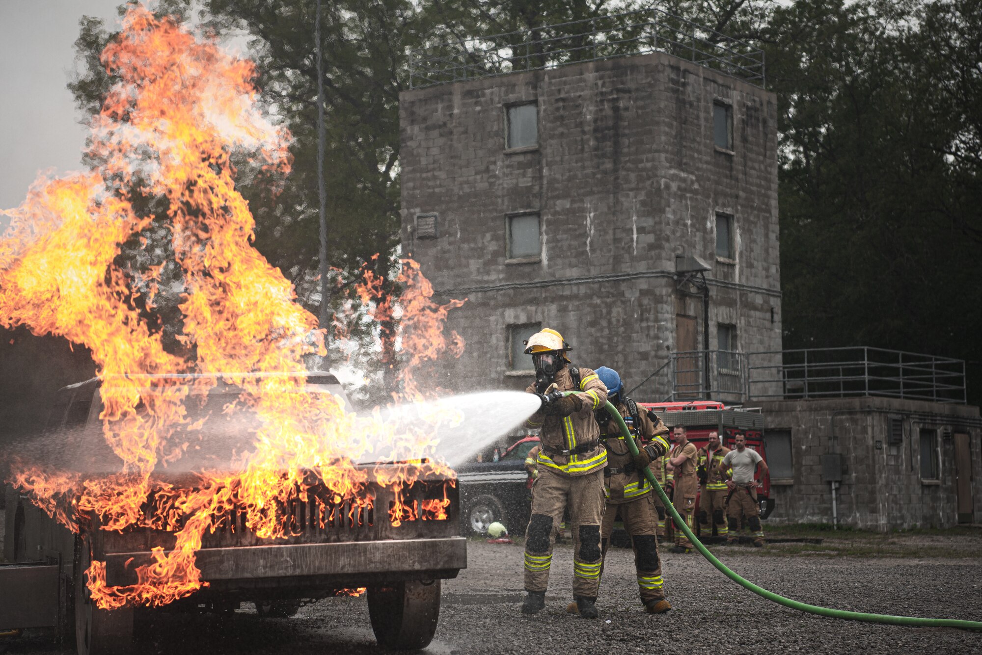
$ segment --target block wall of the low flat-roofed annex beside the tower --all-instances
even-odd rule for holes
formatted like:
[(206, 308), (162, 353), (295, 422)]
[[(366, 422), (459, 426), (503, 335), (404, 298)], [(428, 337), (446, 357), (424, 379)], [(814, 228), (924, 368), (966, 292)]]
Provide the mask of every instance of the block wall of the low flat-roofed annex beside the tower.
[[(793, 478), (774, 484), (774, 523), (832, 523), (832, 490), (822, 456), (843, 457), (837, 490), (840, 525), (863, 529), (948, 528), (957, 523), (955, 432), (969, 435), (974, 513), (982, 519), (982, 441), (979, 409), (965, 405), (837, 398), (760, 403), (768, 431), (791, 430)], [(891, 418), (903, 436), (890, 445)], [(936, 430), (939, 479), (921, 479), (921, 430)]]

